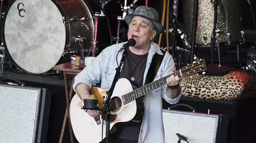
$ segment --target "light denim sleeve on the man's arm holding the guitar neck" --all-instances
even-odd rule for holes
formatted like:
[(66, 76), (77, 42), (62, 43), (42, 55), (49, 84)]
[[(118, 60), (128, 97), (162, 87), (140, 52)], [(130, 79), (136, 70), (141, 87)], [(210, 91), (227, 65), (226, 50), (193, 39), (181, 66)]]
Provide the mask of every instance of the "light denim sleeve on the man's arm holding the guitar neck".
[[(169, 55), (169, 58), (167, 58), (167, 60), (164, 61), (165, 62), (165, 64), (164, 64), (165, 67), (164, 67), (164, 73), (163, 73), (162, 77), (166, 77), (168, 75), (171, 75), (173, 73), (171, 71), (172, 68), (176, 69), (172, 56), (170, 54), (168, 54), (168, 55)], [(182, 94), (180, 94), (175, 99), (170, 99), (166, 96), (166, 88), (167, 88), (167, 84), (162, 86), (162, 96), (163, 96), (164, 100), (166, 100), (166, 102), (168, 102), (169, 104), (177, 104), (178, 101), (180, 100), (180, 97), (181, 97)]]

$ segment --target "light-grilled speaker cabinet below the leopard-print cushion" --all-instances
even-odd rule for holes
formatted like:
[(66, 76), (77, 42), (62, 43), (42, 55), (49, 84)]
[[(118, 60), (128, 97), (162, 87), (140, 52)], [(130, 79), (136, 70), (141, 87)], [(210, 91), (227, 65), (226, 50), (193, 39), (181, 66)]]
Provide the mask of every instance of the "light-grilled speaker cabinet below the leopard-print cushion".
[(227, 142), (228, 116), (163, 109), (163, 123), (165, 143)]

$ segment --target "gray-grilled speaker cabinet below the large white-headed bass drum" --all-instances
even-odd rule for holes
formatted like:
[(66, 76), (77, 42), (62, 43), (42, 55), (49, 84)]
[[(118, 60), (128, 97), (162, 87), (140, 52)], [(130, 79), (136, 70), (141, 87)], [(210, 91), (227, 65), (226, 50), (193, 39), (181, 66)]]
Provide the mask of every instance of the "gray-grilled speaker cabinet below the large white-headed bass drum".
[(0, 84), (0, 142), (46, 143), (51, 96), (43, 88)]

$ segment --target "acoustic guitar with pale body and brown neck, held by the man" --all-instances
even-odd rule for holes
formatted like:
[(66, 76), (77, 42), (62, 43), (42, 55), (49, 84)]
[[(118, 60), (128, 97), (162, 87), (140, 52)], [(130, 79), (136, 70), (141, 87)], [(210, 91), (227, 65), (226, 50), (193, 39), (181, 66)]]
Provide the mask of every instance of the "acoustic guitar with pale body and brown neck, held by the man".
[[(182, 69), (173, 73), (180, 77), (191, 75), (197, 72), (206, 70), (204, 60), (197, 61)], [(133, 90), (133, 87), (129, 80), (120, 78), (116, 83), (113, 94), (111, 96), (111, 114), (110, 114), (110, 129), (114, 124), (119, 122), (128, 122), (134, 119), (137, 113), (137, 98), (155, 90), (161, 88), (166, 84), (166, 79), (170, 77), (160, 78), (154, 82), (151, 82), (143, 87)], [(106, 91), (109, 89), (101, 89), (99, 87), (92, 87), (90, 94), (95, 95), (98, 99), (98, 104), (103, 107), (103, 96), (106, 97)], [(88, 115), (83, 109), (83, 100), (75, 94), (71, 100), (69, 112), (71, 125), (73, 128), (74, 135), (80, 143), (99, 143), (103, 138), (106, 137), (106, 121), (101, 116), (94, 118)], [(103, 125), (102, 125), (103, 122)], [(102, 129), (103, 127), (103, 129)], [(103, 132), (103, 134), (102, 134)]]

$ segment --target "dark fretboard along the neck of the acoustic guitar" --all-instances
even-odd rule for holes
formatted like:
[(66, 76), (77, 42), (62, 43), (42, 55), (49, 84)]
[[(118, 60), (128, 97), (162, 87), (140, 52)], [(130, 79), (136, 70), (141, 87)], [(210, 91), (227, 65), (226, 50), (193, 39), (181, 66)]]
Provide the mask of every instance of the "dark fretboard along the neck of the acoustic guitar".
[[(176, 71), (175, 73), (173, 73), (175, 76), (178, 75), (178, 76), (182, 76), (181, 75), (181, 71), (178, 70)], [(171, 74), (171, 75), (173, 75)], [(156, 80), (155, 82), (151, 82), (147, 85), (144, 85), (143, 87), (140, 87), (136, 90), (133, 90), (132, 92), (128, 93), (128, 94), (125, 94), (122, 96), (122, 99), (123, 99), (123, 104), (128, 104), (129, 102), (155, 90), (155, 89), (158, 89), (159, 87), (163, 86), (166, 84), (166, 79), (168, 77), (170, 77), (171, 75), (168, 75), (166, 77), (163, 77), (163, 78), (160, 78), (159, 80)]]

